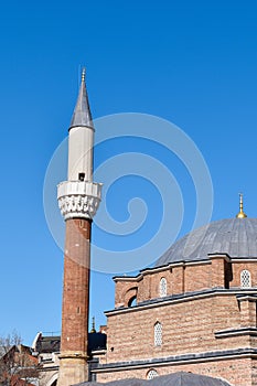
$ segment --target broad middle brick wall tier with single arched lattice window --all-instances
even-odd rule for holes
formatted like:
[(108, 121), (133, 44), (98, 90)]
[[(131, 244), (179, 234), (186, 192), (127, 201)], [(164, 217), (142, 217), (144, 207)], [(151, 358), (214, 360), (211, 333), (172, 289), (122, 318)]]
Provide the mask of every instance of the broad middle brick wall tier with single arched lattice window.
[[(154, 346), (154, 323), (162, 324), (163, 343)], [(215, 332), (239, 329), (242, 315), (234, 294), (211, 294), (154, 308), (131, 308), (108, 315), (106, 361), (164, 357), (249, 346), (247, 336), (216, 339)]]

